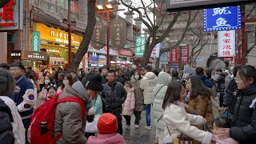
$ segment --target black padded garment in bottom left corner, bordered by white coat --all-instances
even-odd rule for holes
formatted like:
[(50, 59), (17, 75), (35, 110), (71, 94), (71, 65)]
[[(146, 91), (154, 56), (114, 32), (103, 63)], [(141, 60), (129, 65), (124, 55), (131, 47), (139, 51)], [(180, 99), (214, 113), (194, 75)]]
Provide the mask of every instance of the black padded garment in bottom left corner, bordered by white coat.
[(14, 118), (10, 108), (0, 99), (0, 143), (14, 143), (13, 126), (11, 122), (14, 122)]

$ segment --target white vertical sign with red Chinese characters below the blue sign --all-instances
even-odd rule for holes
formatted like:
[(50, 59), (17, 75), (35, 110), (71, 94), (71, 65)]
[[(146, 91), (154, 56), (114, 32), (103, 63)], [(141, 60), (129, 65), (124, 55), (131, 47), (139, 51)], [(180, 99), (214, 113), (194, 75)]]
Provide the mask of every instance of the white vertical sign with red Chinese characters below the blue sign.
[(235, 56), (235, 30), (218, 31), (218, 57)]

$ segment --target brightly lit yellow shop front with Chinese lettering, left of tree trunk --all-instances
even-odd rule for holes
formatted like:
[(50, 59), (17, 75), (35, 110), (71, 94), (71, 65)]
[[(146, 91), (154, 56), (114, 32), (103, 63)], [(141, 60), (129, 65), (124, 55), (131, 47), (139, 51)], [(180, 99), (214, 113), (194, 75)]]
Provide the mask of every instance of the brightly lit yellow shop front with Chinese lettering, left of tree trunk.
[[(68, 65), (69, 49), (68, 37), (69, 34), (65, 30), (56, 29), (46, 26), (42, 23), (34, 22), (34, 31), (40, 34), (40, 51), (46, 52), (49, 55), (48, 65), (53, 67), (65, 67)], [(71, 35), (71, 58), (77, 52), (82, 36), (72, 33)]]

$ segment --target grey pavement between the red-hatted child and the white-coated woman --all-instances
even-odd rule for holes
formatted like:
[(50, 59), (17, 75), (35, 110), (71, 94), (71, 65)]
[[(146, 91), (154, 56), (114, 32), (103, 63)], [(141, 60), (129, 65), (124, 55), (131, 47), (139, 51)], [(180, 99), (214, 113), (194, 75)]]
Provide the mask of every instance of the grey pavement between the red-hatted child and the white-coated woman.
[(122, 130), (123, 130), (123, 138), (125, 138), (126, 144), (154, 144), (154, 136), (155, 136), (155, 127), (153, 121), (153, 114), (151, 113), (151, 126), (152, 130), (146, 130), (146, 116), (145, 111), (142, 111), (142, 119), (139, 124), (139, 128), (135, 129), (134, 127), (134, 115), (131, 117), (131, 126), (130, 130), (126, 130), (126, 119), (122, 117)]

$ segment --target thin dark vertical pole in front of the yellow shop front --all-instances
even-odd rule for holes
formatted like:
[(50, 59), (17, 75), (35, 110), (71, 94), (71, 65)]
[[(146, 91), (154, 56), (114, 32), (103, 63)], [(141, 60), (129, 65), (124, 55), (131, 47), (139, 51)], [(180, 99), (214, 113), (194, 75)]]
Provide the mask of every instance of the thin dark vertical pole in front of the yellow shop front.
[(67, 14), (67, 21), (68, 21), (68, 29), (69, 29), (69, 65), (71, 63), (71, 0), (68, 0), (68, 14)]

